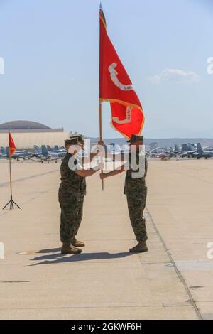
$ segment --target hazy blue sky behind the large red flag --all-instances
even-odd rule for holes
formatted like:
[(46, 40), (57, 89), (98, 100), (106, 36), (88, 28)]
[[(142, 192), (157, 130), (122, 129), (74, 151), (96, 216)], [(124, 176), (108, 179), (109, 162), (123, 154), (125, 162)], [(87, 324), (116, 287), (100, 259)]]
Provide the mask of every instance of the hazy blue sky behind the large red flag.
[[(0, 123), (28, 119), (98, 136), (97, 0), (0, 0)], [(213, 137), (212, 0), (102, 0), (147, 137)], [(104, 103), (104, 137), (110, 128)]]

